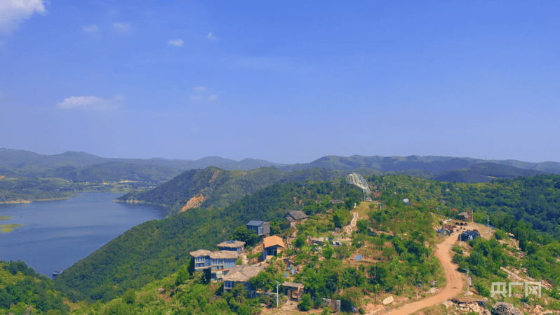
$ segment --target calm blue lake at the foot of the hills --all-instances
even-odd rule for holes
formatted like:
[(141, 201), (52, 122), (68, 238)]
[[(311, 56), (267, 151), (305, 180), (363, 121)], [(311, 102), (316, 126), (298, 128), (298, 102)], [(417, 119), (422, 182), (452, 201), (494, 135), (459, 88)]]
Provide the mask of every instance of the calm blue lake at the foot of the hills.
[(87, 257), (126, 230), (163, 219), (165, 210), (113, 202), (122, 194), (85, 193), (63, 201), (0, 204), (0, 215), (22, 223), (0, 232), (0, 260), (22, 260), (39, 274), (51, 276)]

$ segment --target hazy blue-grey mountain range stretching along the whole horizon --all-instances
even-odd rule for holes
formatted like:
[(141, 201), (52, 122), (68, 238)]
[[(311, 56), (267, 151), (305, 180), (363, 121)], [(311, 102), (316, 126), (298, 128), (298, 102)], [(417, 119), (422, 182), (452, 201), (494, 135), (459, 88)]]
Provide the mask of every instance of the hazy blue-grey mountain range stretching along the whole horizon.
[[(307, 170), (311, 168), (326, 168), (328, 170), (356, 171), (364, 175), (405, 174), (432, 178), (434, 180), (456, 182), (488, 182), (493, 178), (513, 178), (517, 176), (533, 176), (540, 173), (560, 174), (560, 163), (541, 162), (530, 163), (516, 160), (483, 160), (472, 158), (458, 158), (451, 156), (324, 156), (311, 163), (279, 164), (260, 159), (244, 159), (234, 161), (219, 156), (208, 156), (196, 161), (171, 159), (114, 159), (102, 158), (85, 152), (68, 151), (62, 154), (43, 155), (18, 149), (0, 149), (0, 175), (24, 176), (25, 173), (36, 174), (42, 171), (44, 176), (62, 174), (60, 177), (69, 178), (74, 170), (78, 175), (89, 175), (100, 172), (100, 164), (119, 166), (121, 171), (112, 171), (112, 178), (128, 179), (131, 170), (141, 170), (133, 167), (159, 166), (172, 168), (180, 172), (192, 169), (204, 169), (210, 166), (224, 170), (254, 170), (262, 167), (273, 167), (284, 171)], [(480, 165), (479, 164), (483, 164)], [(490, 165), (492, 164), (492, 165)], [(128, 167), (125, 167), (128, 165)], [(95, 166), (95, 167), (93, 167)], [(474, 167), (476, 166), (476, 167)], [(501, 167), (500, 167), (501, 166)], [(89, 168), (92, 168), (90, 170)], [(106, 169), (108, 166), (103, 167)], [(157, 173), (161, 180), (175, 175), (175, 172), (165, 172), (164, 168), (150, 170)], [(55, 171), (53, 171), (55, 169)], [(79, 170), (78, 170), (79, 169)], [(531, 170), (531, 172), (526, 172)], [(134, 172), (132, 172), (134, 173)], [(128, 175), (127, 175), (128, 174)], [(128, 176), (128, 177), (127, 177)], [(76, 177), (80, 178), (80, 177)], [(84, 175), (81, 178), (86, 178)], [(101, 178), (101, 177), (96, 177)]]

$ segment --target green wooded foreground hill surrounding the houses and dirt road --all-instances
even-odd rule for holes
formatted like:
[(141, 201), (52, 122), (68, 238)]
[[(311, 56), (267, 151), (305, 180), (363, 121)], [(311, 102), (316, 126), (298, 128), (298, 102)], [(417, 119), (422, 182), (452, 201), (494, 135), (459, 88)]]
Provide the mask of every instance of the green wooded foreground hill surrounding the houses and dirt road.
[[(215, 249), (213, 245), (225, 239), (236, 224), (242, 226), (255, 216), (271, 220), (273, 234), (286, 236), (286, 233), (291, 234), (293, 230), (279, 230), (274, 219), (281, 217), (285, 213), (284, 209), (301, 209), (312, 215), (312, 218), (298, 225), (297, 238), (292, 242), (291, 248), (284, 252), (284, 258), (289, 257), (298, 266), (298, 272), (290, 281), (305, 284), (307, 297), (302, 300), (305, 302), (300, 302), (301, 309), (321, 308), (323, 297), (341, 300), (342, 311), (347, 312), (354, 307), (364, 307), (364, 304), (372, 300), (379, 302), (387, 295), (400, 301), (416, 300), (426, 295), (434, 280), (444, 286), (446, 280), (442, 277), (441, 265), (434, 255), (434, 246), (439, 242), (435, 228), (441, 226), (446, 217), (456, 218), (458, 211), (469, 209), (458, 201), (459, 198), (467, 200), (469, 196), (481, 192), (488, 194), (486, 189), (503, 190), (507, 187), (514, 187), (512, 192), (521, 195), (556, 192), (559, 189), (556, 187), (559, 178), (554, 175), (475, 185), (436, 182), (406, 175), (376, 176), (369, 180), (373, 191), (380, 193), (376, 196), (378, 201), (366, 203), (365, 207), (359, 206), (356, 209), (352, 209), (352, 204), (361, 198), (361, 190), (343, 182), (314, 182), (305, 185), (278, 183), (232, 203), (226, 208), (227, 213), (216, 212), (215, 209), (192, 209), (166, 220), (142, 224), (138, 229), (133, 229), (134, 233), (133, 230), (127, 232), (102, 248), (101, 253), (96, 253), (96, 258), (99, 259), (97, 264), (91, 264), (92, 255), (78, 269), (75, 268), (78, 265), (72, 267), (72, 279), (68, 279), (67, 272), (70, 269), (63, 273), (62, 276), (67, 277), (63, 284), (76, 286), (83, 293), (90, 294), (91, 298), (103, 301), (124, 294), (107, 304), (91, 304), (76, 314), (89, 314), (93, 310), (108, 314), (108, 311), (117, 309), (128, 309), (131, 314), (135, 311), (156, 310), (170, 311), (172, 314), (253, 314), (258, 312), (260, 304), (274, 305), (274, 301), (266, 296), (253, 300), (242, 290), (222, 295), (222, 289), (218, 285), (208, 285), (200, 275), (187, 272), (188, 264), (185, 259), (188, 260), (189, 248), (185, 244), (192, 241), (196, 244), (194, 248)], [(530, 187), (533, 187), (533, 192)], [(450, 201), (452, 197), (457, 200)], [(402, 201), (405, 198), (410, 199), (409, 205)], [(345, 202), (335, 206), (342, 208), (326, 211), (333, 207), (329, 202), (331, 199), (342, 199)], [(488, 202), (491, 194), (488, 194), (488, 199), (481, 198), (482, 200)], [(548, 201), (554, 203), (552, 198), (543, 202)], [(472, 206), (472, 203), (467, 204)], [(455, 206), (458, 208), (454, 208)], [(364, 208), (371, 208), (371, 211), (359, 210)], [(361, 211), (350, 241), (341, 246), (317, 246), (309, 241), (309, 237), (332, 236), (335, 227), (346, 225), (349, 217), (352, 217), (349, 209), (352, 212)], [(194, 220), (195, 217), (187, 219), (187, 213), (196, 216), (199, 222), (192, 222), (194, 224), (189, 226), (189, 220)], [(492, 232), (484, 238), (463, 244), (462, 247), (453, 247), (453, 260), (476, 276), (475, 297), (489, 298), (489, 304), (496, 301), (491, 298), (488, 288), (492, 281), (506, 281), (507, 274), (500, 267), (519, 270), (524, 266), (528, 275), (535, 279), (548, 281), (553, 286), (560, 283), (560, 267), (556, 263), (560, 259), (559, 241), (552, 239), (548, 232), (535, 232), (523, 221), (500, 221), (505, 213), (500, 213), (500, 210), (493, 209), (492, 206), (475, 208), (475, 220), (481, 220), (487, 213), (491, 217), (491, 224), (499, 224), (505, 231), (514, 233), (516, 239), (511, 239), (498, 229), (493, 236)], [(174, 224), (178, 226), (173, 227)], [(185, 231), (189, 227), (196, 230), (187, 234)], [(478, 225), (478, 229), (482, 230), (481, 227), (484, 226)], [(220, 233), (221, 236), (214, 237)], [(449, 237), (456, 239), (457, 236)], [(158, 245), (162, 249), (158, 249)], [(521, 250), (517, 248), (518, 245)], [(127, 252), (133, 253), (140, 260), (140, 257), (152, 255), (153, 262), (144, 260), (142, 264), (135, 264), (132, 259), (124, 260), (123, 256), (126, 255), (115, 253), (116, 248), (130, 248)], [(156, 255), (152, 254), (154, 252)], [(185, 253), (185, 257), (178, 257), (178, 253)], [(357, 262), (353, 259), (355, 255), (363, 255), (364, 260)], [(119, 266), (126, 267), (112, 267), (112, 260), (116, 260)], [(110, 276), (97, 276), (100, 271), (94, 267), (98, 264), (114, 272)], [(144, 274), (150, 274), (154, 279), (163, 278), (166, 274), (160, 269), (172, 265), (181, 271), (171, 278), (156, 281), (138, 290), (135, 302), (126, 302), (133, 296), (131, 291), (125, 293), (126, 288), (141, 286), (134, 282), (135, 279), (144, 281)], [(141, 272), (138, 271), (140, 269)], [(255, 288), (274, 291), (275, 281), (286, 281), (285, 272), (284, 260), (273, 260), (265, 272), (252, 279), (251, 283)], [(132, 277), (129, 278), (128, 275)], [(86, 281), (82, 281), (83, 279)], [(116, 286), (112, 282), (114, 279), (121, 283)], [(439, 288), (443, 288), (441, 286)], [(156, 288), (159, 287), (164, 288), (166, 293), (157, 295)], [(547, 299), (546, 305), (552, 309), (560, 305), (558, 290), (543, 290), (544, 298)], [(534, 309), (535, 304), (544, 305), (542, 301), (522, 296), (510, 297), (508, 300), (518, 305), (523, 302), (522, 305), (528, 305), (526, 309)], [(391, 308), (393, 307), (394, 304)]]

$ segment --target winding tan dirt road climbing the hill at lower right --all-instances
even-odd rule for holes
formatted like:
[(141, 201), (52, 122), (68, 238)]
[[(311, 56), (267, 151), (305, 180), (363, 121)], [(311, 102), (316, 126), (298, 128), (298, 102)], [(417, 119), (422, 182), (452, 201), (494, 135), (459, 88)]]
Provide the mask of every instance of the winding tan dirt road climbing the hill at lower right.
[[(447, 236), (447, 239), (439, 244), (436, 248), (436, 257), (439, 259), (441, 264), (444, 266), (445, 275), (447, 280), (446, 287), (441, 290), (438, 294), (428, 297), (424, 300), (418, 302), (413, 302), (411, 304), (406, 304), (399, 309), (392, 310), (391, 315), (408, 315), (413, 314), (415, 311), (420, 311), (425, 307), (431, 307), (445, 300), (451, 299), (455, 295), (458, 295), (463, 291), (463, 274), (458, 272), (457, 265), (451, 262), (451, 246), (457, 241), (457, 235)], [(466, 278), (466, 277), (465, 277)]]

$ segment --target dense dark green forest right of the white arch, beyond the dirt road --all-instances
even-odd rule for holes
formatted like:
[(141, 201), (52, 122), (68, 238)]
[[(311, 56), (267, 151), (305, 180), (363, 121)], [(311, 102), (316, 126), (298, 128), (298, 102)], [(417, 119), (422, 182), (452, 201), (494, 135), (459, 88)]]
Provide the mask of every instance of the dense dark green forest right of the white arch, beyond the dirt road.
[[(560, 237), (560, 175), (517, 177), (513, 180), (465, 184), (437, 182), (408, 176), (373, 176), (374, 187), (392, 189), (411, 202), (431, 200), (441, 213), (474, 210), (475, 218), (511, 231), (520, 222), (556, 238)], [(396, 202), (396, 201), (394, 201)], [(484, 215), (483, 215), (484, 213)]]

